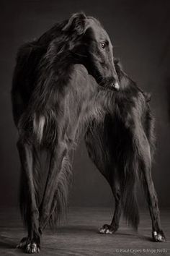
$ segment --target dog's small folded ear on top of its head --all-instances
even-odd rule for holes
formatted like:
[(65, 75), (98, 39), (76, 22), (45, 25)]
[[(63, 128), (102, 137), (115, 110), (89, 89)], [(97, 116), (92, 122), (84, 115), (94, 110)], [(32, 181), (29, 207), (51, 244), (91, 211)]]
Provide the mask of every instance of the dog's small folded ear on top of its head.
[(64, 32), (76, 32), (78, 35), (82, 35), (86, 30), (86, 15), (84, 13), (73, 14), (68, 20), (65, 27), (63, 27)]

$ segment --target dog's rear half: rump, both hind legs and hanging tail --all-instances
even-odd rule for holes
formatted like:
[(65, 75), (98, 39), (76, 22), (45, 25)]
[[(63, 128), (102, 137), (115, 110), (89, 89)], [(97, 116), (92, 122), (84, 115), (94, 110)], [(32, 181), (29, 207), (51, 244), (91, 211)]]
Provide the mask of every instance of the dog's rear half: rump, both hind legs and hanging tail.
[(152, 219), (153, 240), (163, 242), (158, 200), (151, 178), (151, 162), (155, 150), (154, 118), (149, 107), (150, 95), (122, 71), (119, 61), (115, 69), (120, 91), (107, 94), (110, 103), (103, 121), (95, 119), (85, 141), (89, 156), (109, 182), (115, 196), (115, 213), (110, 225), (100, 233), (112, 234), (119, 227), (121, 209), (128, 223), (138, 229), (139, 213), (135, 186), (139, 179)]

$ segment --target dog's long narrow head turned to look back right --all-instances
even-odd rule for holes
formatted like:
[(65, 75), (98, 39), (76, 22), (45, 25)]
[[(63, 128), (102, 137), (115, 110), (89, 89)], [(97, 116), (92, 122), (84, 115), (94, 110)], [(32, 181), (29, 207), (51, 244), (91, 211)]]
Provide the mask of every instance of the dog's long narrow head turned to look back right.
[(119, 90), (112, 43), (99, 21), (73, 14), (63, 27), (67, 47), (78, 63), (84, 64), (99, 85)]

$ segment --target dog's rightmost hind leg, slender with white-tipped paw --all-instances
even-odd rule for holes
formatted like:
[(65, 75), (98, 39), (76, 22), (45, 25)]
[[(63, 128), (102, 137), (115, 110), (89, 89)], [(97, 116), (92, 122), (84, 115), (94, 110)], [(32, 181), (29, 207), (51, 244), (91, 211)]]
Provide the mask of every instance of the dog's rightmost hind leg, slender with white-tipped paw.
[(158, 199), (151, 176), (151, 149), (142, 127), (136, 125), (135, 144), (139, 155), (139, 168), (143, 181), (143, 189), (146, 193), (148, 208), (152, 220), (152, 236), (154, 242), (164, 242), (164, 232), (161, 230)]

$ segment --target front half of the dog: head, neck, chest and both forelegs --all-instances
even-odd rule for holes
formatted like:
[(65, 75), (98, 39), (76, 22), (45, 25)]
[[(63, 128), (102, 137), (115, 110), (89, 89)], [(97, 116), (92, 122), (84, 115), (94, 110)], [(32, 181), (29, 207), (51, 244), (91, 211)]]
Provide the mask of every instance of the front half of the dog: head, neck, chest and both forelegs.
[(20, 208), (28, 231), (19, 247), (26, 252), (40, 252), (45, 226), (63, 214), (72, 151), (91, 120), (102, 119), (104, 93), (119, 89), (117, 81), (112, 44), (93, 17), (74, 14), (20, 48), (12, 106), (22, 166)]

